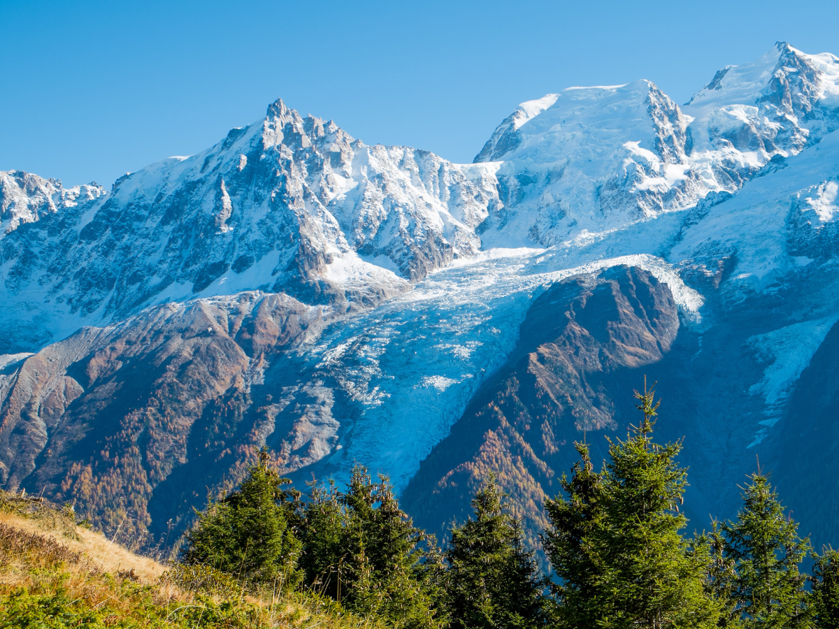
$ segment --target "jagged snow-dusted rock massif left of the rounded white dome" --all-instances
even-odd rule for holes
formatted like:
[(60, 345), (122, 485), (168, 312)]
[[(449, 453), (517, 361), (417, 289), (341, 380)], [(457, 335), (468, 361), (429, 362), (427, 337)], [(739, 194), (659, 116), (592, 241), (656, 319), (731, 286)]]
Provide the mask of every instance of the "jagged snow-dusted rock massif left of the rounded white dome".
[(3, 299), (16, 310), (3, 314), (0, 351), (248, 289), (378, 303), (478, 251), (494, 181), (414, 148), (367, 147), (282, 101), (203, 153), (126, 174), (107, 195), (3, 174)]

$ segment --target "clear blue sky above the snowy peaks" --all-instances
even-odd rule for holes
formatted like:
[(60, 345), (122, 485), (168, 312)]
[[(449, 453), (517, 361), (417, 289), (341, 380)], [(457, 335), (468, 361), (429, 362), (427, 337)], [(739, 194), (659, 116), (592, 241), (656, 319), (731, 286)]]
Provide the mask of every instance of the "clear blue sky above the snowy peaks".
[(113, 180), (274, 98), (365, 143), (471, 162), (521, 101), (647, 78), (682, 103), (782, 39), (839, 54), (833, 2), (0, 0), (0, 170)]

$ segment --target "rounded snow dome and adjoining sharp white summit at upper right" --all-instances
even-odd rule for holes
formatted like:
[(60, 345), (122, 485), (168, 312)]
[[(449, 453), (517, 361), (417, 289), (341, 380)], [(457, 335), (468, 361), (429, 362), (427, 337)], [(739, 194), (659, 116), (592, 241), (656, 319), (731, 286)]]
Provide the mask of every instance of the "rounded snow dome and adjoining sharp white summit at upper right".
[(839, 126), (839, 60), (788, 44), (728, 66), (684, 107), (649, 81), (572, 87), (522, 103), (476, 163), (503, 203), (485, 245), (551, 246), (737, 191)]

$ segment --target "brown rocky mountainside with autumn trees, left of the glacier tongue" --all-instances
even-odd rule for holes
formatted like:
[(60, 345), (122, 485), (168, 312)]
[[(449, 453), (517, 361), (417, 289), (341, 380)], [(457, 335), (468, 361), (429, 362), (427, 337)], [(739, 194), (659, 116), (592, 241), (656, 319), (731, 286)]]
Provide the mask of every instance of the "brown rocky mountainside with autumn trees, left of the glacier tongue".
[[(165, 530), (275, 432), (265, 372), (333, 316), (243, 293), (157, 306), (20, 356), (6, 370), (0, 481), (74, 496), (106, 526), (130, 512), (132, 533)], [(315, 440), (299, 456), (329, 447)]]

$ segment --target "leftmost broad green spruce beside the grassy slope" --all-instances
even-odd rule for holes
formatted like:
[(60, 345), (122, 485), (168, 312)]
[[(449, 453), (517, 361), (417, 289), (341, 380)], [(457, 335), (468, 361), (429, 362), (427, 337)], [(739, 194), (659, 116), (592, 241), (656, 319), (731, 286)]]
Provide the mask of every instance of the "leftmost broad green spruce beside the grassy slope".
[(294, 536), (297, 492), (286, 491), (290, 481), (268, 469), (268, 451), (237, 491), (205, 512), (186, 535), (186, 564), (208, 564), (246, 580), (273, 581), (293, 588), (302, 577), (296, 569), (300, 542)]

